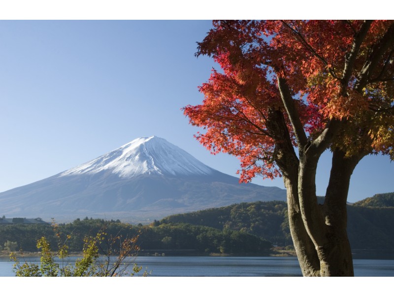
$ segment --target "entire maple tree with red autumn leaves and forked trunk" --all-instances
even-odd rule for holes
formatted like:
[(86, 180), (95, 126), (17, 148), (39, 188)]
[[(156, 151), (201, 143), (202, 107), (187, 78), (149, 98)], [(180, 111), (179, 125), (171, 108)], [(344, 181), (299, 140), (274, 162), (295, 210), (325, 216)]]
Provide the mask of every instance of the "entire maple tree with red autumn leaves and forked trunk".
[[(214, 21), (199, 55), (221, 67), (186, 106), (197, 140), (240, 160), (240, 181), (282, 176), (304, 276), (353, 276), (350, 177), (368, 154), (394, 160), (394, 21)], [(330, 149), (323, 205), (316, 168)]]

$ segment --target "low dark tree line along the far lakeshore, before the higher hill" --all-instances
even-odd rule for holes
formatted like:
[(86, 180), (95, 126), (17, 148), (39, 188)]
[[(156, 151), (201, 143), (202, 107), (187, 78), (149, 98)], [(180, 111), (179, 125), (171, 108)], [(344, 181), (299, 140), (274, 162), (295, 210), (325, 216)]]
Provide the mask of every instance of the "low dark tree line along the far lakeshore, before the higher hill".
[[(137, 245), (140, 253), (156, 253), (166, 250), (176, 254), (177, 250), (188, 250), (189, 254), (223, 253), (234, 255), (266, 255), (272, 245), (270, 242), (250, 233), (236, 230), (219, 230), (213, 227), (188, 223), (155, 225), (131, 225), (119, 221), (101, 219), (77, 219), (71, 223), (57, 225), (58, 235), (67, 242), (69, 252), (81, 252), (83, 238), (95, 235), (103, 225), (109, 236), (132, 237), (140, 232)], [(45, 236), (51, 246), (56, 246), (59, 238), (48, 225), (14, 224), (0, 227), (0, 245), (7, 241), (17, 244), (17, 250), (36, 252), (36, 243)], [(15, 248), (14, 248), (15, 249)]]

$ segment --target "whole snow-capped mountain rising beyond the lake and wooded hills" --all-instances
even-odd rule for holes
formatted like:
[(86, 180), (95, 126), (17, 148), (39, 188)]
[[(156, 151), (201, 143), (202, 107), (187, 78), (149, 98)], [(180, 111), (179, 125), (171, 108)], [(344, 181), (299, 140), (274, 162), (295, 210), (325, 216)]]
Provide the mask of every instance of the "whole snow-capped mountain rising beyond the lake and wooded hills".
[(239, 184), (159, 137), (138, 138), (94, 160), (0, 193), (0, 214), (68, 222), (149, 222), (240, 202), (286, 200), (278, 187)]

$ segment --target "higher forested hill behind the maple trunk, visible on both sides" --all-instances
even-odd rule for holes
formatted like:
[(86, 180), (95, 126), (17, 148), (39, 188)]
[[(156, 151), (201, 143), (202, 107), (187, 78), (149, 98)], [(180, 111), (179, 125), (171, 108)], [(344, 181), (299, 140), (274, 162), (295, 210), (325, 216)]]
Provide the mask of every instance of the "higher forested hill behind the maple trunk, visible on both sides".
[[(394, 250), (394, 193), (367, 198), (348, 205), (348, 235), (352, 249)], [(365, 201), (364, 200), (364, 201)], [(383, 203), (382, 200), (385, 200)], [(375, 206), (370, 206), (374, 204)], [(382, 204), (384, 206), (378, 206)], [(285, 202), (241, 203), (187, 214), (172, 215), (159, 223), (190, 223), (218, 229), (240, 230), (262, 237), (275, 245), (292, 244)]]

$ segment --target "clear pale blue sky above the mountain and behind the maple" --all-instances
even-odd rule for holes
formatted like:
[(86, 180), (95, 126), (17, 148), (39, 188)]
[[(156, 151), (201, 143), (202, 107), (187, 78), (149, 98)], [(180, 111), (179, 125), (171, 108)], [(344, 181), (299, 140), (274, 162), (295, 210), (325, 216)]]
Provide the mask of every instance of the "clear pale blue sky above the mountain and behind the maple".
[[(0, 192), (156, 135), (235, 175), (238, 160), (210, 155), (180, 110), (199, 104), (213, 61), (196, 58), (211, 21), (0, 21)], [(330, 159), (318, 168), (325, 194)], [(394, 163), (356, 168), (354, 202), (394, 191)], [(284, 188), (282, 180), (254, 183)]]

